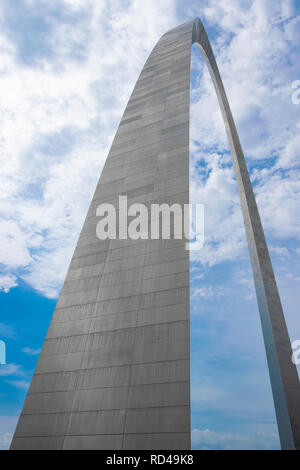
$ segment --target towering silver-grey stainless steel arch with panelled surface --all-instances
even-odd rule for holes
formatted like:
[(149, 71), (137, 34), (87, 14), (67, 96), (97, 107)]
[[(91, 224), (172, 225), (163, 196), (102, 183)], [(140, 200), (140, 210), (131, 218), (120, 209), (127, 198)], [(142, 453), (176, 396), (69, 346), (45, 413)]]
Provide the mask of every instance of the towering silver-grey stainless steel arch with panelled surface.
[(189, 252), (185, 240), (98, 240), (96, 208), (189, 202), (191, 46), (230, 143), (282, 448), (300, 448), (300, 389), (252, 185), (199, 19), (162, 36), (130, 97), (96, 187), (12, 449), (189, 449)]

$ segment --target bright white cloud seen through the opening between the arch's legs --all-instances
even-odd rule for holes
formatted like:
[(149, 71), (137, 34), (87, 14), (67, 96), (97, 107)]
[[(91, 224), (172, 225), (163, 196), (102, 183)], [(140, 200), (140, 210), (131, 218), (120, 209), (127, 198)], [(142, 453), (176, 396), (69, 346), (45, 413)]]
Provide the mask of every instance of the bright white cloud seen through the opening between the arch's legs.
[[(204, 204), (205, 244), (191, 252), (193, 261), (214, 265), (240, 257), (246, 247), (245, 230), (237, 185), (227, 156), (197, 153), (193, 155), (191, 201)], [(201, 161), (199, 171), (196, 163)], [(204, 169), (205, 168), (205, 169)], [(204, 174), (203, 174), (204, 173)]]

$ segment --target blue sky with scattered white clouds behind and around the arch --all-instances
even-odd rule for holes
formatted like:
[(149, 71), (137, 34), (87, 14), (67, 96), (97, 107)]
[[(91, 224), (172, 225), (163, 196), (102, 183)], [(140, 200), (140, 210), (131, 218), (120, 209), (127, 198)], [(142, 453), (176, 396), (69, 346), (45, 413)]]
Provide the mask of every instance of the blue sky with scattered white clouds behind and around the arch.
[[(162, 34), (195, 17), (236, 120), (291, 340), (300, 339), (299, 2), (2, 0), (0, 449), (141, 68)], [(190, 268), (193, 448), (278, 449), (237, 185), (197, 46), (190, 129), (190, 197), (205, 206), (205, 244)]]

